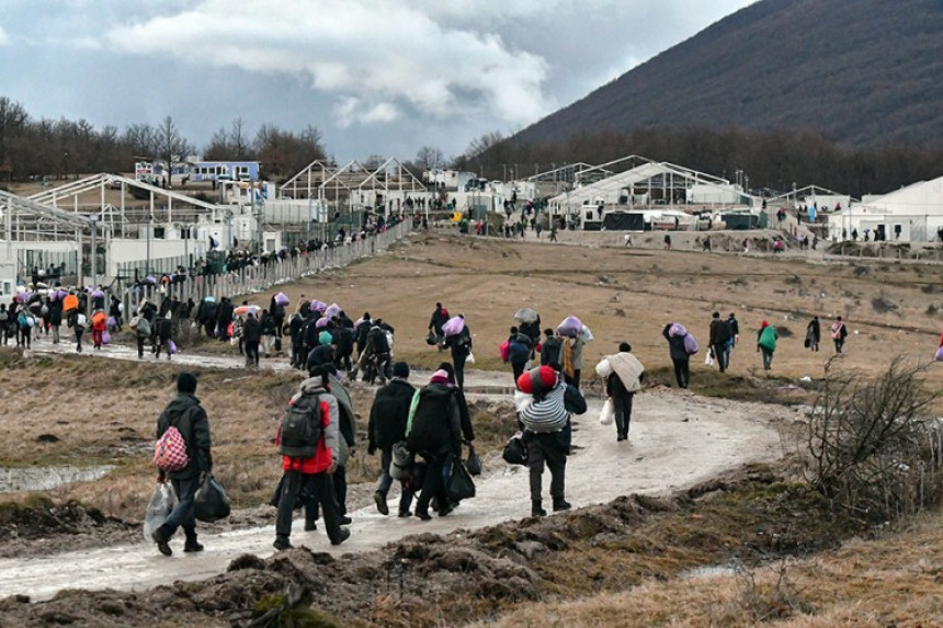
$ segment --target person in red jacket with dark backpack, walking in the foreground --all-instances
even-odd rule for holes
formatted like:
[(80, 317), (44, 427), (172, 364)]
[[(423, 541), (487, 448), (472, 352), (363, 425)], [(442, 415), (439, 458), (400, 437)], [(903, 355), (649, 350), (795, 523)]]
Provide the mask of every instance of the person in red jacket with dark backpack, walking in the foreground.
[(340, 415), (337, 398), (327, 390), (327, 378), (331, 370), (333, 365), (313, 368), (309, 372), (310, 377), (300, 384), (298, 391), (288, 401), (289, 412), (308, 414), (310, 420), (315, 421), (318, 427), (316, 443), (309, 448), (293, 448), (291, 443), (283, 441), (281, 426), (275, 437), (285, 471), (279, 493), (279, 514), (275, 518), (273, 547), (277, 550), (292, 547), (292, 513), (303, 488), (318, 495), (331, 545), (340, 545), (350, 537), (350, 530), (340, 524), (341, 515), (332, 478), (340, 456)]

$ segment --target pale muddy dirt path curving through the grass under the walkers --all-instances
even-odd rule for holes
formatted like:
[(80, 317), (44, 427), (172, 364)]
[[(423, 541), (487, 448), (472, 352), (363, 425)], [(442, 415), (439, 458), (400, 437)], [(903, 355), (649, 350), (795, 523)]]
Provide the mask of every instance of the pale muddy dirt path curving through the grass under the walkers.
[[(61, 345), (60, 345), (61, 346)], [(68, 350), (68, 345), (65, 347)], [(46, 343), (37, 352), (58, 352)], [(130, 347), (109, 346), (99, 358), (137, 359)], [(241, 367), (238, 358), (180, 355), (174, 359), (201, 366)], [(269, 361), (287, 368), (283, 361)], [(417, 374), (419, 376), (419, 374)], [(470, 372), (469, 389), (499, 390), (509, 384), (505, 373)], [(416, 381), (421, 381), (418, 377)], [(507, 395), (501, 392), (501, 395)], [(616, 443), (615, 429), (602, 426), (597, 416), (601, 401), (590, 400), (589, 412), (577, 419), (573, 444), (578, 447), (567, 467), (567, 498), (576, 507), (604, 503), (629, 493), (667, 493), (693, 484), (748, 461), (781, 455), (780, 438), (771, 426), (787, 416), (786, 409), (705, 399), (681, 391), (655, 391), (636, 398), (630, 441)], [(545, 477), (546, 492), (549, 478)], [(530, 512), (527, 475), (500, 459), (485, 461), (478, 495), (464, 502), (446, 518), (422, 523), (416, 518), (384, 517), (374, 507), (352, 513), (351, 538), (334, 548), (322, 530), (305, 533), (296, 521), (295, 545), (332, 555), (383, 547), (406, 535), (475, 529), (526, 516)], [(398, 495), (391, 494), (395, 504)], [(395, 505), (394, 505), (395, 511)], [(64, 552), (42, 558), (0, 560), (0, 597), (27, 594), (46, 600), (64, 589), (144, 590), (175, 580), (200, 580), (226, 570), (242, 553), (271, 556), (273, 526), (201, 535), (202, 555), (184, 555), (174, 539), (172, 558), (160, 556), (152, 544), (141, 543)]]

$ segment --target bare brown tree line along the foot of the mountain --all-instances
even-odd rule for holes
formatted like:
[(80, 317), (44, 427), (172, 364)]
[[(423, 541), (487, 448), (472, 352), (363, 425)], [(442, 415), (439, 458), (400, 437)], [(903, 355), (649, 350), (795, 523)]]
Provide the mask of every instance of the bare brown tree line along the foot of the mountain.
[[(667, 161), (734, 180), (743, 171), (749, 187), (788, 192), (819, 185), (861, 198), (943, 175), (943, 147), (887, 145), (849, 148), (816, 130), (730, 127), (640, 128), (632, 133), (579, 133), (544, 142), (521, 142), (500, 133), (473, 140), (453, 167), (487, 179), (513, 172), (525, 179), (567, 163), (601, 164), (629, 155)], [(616, 168), (616, 170), (618, 170)]]

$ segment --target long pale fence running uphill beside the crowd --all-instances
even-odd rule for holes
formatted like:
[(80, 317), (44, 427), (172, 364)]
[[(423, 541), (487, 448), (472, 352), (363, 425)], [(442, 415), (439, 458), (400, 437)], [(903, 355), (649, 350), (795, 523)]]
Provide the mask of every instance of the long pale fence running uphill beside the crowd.
[[(364, 240), (342, 246), (309, 251), (297, 255), (269, 262), (259, 266), (247, 266), (214, 275), (188, 276), (183, 282), (166, 285), (136, 285), (126, 288), (122, 295), (126, 318), (137, 310), (141, 300), (159, 305), (164, 298), (177, 297), (181, 302), (193, 299), (198, 304), (204, 297), (235, 297), (260, 293), (276, 284), (287, 283), (299, 277), (313, 275), (328, 269), (346, 266), (351, 262), (370, 258), (385, 251), (391, 243), (402, 239), (412, 230), (412, 221), (404, 220), (383, 233), (370, 236)], [(151, 261), (152, 262), (152, 261)]]

